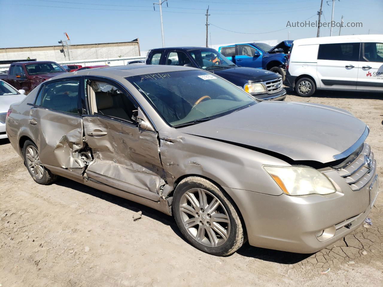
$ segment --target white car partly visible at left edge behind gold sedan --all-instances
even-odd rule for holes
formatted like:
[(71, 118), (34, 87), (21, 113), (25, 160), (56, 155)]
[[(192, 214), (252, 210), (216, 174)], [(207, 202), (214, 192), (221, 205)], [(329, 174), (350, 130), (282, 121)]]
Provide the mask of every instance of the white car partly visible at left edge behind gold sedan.
[(0, 80), (0, 139), (6, 139), (5, 119), (9, 106), (25, 98), (24, 90), (16, 90), (10, 84)]

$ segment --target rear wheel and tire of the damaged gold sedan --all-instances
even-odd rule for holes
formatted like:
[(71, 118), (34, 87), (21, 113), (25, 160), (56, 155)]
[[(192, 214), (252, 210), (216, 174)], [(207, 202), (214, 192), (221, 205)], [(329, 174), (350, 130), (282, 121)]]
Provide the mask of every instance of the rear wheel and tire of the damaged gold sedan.
[(51, 184), (57, 179), (57, 175), (52, 174), (41, 163), (37, 146), (30, 140), (26, 140), (23, 147), (24, 165), (33, 180), (39, 184)]

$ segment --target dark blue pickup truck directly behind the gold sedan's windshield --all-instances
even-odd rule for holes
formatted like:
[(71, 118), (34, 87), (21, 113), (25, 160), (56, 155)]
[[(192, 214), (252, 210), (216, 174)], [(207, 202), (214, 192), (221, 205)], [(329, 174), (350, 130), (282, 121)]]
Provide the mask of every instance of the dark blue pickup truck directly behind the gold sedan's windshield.
[(200, 68), (228, 80), (257, 99), (283, 101), (286, 98), (286, 91), (282, 88), (282, 77), (279, 74), (258, 68), (238, 66), (218, 51), (210, 48), (152, 49), (147, 54), (146, 64)]

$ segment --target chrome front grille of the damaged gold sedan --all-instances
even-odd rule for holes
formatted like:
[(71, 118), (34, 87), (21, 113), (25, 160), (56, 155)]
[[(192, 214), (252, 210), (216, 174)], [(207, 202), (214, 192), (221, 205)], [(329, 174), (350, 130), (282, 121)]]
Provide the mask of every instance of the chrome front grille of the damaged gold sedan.
[(373, 178), (376, 170), (376, 160), (370, 145), (363, 143), (362, 151), (351, 162), (336, 169), (353, 191), (364, 188)]

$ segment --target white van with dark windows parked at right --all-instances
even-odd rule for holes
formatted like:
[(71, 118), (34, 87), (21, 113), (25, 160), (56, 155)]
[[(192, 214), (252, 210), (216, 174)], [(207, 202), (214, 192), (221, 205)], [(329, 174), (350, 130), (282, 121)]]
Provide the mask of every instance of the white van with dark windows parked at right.
[(296, 40), (287, 67), (285, 85), (299, 96), (325, 89), (383, 92), (383, 35)]

